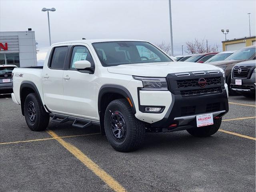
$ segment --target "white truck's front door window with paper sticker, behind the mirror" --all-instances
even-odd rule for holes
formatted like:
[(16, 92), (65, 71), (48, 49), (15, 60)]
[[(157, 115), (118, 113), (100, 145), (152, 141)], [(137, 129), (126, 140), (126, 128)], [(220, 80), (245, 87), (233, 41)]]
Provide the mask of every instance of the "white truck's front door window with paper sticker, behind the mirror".
[(82, 60), (87, 60), (94, 66), (94, 61), (89, 50), (84, 46), (75, 46), (72, 51), (70, 69), (75, 69), (74, 62)]

